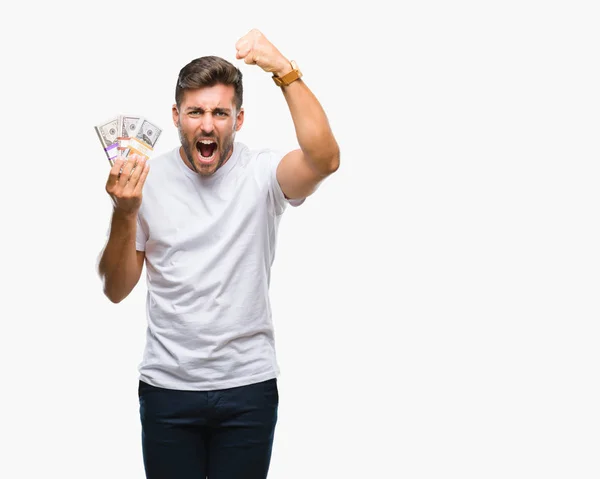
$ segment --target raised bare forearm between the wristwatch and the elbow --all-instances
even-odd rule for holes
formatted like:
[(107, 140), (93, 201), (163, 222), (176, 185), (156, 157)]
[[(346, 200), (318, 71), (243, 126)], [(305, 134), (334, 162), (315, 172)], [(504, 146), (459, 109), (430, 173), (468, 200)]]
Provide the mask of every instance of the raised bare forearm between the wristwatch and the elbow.
[(323, 107), (302, 80), (282, 90), (305, 158), (322, 174), (335, 171), (340, 152)]

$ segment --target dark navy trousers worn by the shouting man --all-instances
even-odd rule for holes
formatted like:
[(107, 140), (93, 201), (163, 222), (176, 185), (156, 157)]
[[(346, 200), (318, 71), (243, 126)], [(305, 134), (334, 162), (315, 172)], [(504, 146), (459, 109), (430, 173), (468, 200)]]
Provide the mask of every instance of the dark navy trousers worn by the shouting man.
[(265, 479), (279, 393), (277, 379), (216, 391), (139, 383), (148, 479)]

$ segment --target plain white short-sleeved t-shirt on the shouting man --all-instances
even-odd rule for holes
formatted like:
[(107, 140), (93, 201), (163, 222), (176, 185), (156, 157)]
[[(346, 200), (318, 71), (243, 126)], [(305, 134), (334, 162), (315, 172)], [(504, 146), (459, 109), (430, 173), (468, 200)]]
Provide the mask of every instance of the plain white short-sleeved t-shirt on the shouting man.
[(270, 268), (281, 215), (303, 202), (281, 191), (281, 158), (236, 142), (210, 177), (179, 148), (150, 160), (136, 234), (148, 286), (142, 381), (214, 390), (279, 375)]

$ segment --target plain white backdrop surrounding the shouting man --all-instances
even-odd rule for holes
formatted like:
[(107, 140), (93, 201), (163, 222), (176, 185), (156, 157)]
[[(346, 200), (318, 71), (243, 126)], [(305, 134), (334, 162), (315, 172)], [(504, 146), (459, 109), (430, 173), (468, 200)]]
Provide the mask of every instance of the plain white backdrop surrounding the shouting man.
[[(19, 2), (2, 15), (0, 476), (142, 478), (144, 280), (95, 274), (93, 126), (177, 144), (175, 80), (261, 29), (321, 100), (340, 170), (273, 269), (270, 478), (598, 478), (595, 2)], [(393, 5), (393, 7), (392, 7)], [(296, 147), (240, 63), (238, 140)]]

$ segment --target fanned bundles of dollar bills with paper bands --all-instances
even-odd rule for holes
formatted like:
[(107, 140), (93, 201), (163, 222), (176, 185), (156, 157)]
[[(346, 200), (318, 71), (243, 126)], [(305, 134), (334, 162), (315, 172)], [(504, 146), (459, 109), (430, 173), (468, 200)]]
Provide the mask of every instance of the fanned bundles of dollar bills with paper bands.
[(162, 130), (142, 116), (118, 115), (94, 126), (111, 166), (117, 156), (150, 158)]

